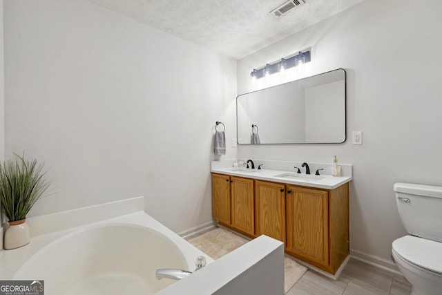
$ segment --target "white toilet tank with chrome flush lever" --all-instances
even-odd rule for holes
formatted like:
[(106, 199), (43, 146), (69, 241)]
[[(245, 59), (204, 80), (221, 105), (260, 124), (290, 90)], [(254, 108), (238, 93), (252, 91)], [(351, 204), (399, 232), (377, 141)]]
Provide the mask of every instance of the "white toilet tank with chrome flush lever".
[(398, 182), (393, 190), (407, 232), (442, 242), (442, 187)]

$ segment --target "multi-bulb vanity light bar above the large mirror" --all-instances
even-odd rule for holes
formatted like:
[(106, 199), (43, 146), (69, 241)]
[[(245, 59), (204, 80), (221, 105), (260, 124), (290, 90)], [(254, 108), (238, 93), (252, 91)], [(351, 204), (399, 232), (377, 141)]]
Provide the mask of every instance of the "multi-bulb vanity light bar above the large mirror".
[(255, 69), (250, 73), (250, 77), (252, 81), (256, 79), (260, 79), (262, 77), (269, 77), (269, 75), (274, 73), (281, 73), (281, 75), (288, 68), (298, 67), (302, 68), (304, 64), (311, 60), (310, 51), (307, 50), (305, 52), (299, 51), (296, 55), (292, 55), (291, 57), (282, 58), (280, 61), (277, 61), (274, 64), (266, 64), (261, 68)]

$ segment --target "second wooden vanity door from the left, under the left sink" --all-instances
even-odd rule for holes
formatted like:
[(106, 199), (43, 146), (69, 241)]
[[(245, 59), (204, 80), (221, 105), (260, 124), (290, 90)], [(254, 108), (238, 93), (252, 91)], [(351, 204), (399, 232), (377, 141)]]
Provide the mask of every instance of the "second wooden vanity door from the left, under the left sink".
[(255, 234), (253, 180), (231, 176), (231, 226)]

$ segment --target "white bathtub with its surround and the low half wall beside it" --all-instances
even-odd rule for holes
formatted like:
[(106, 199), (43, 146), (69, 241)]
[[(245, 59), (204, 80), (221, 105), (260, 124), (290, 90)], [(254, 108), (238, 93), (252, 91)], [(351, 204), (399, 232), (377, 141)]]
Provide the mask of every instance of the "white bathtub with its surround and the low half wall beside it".
[[(0, 249), (0, 280), (44, 280), (45, 295), (284, 294), (282, 242), (260, 236), (214, 261), (146, 214), (142, 197), (26, 222), (31, 242)], [(198, 272), (156, 279), (158, 268), (193, 272), (198, 256)]]

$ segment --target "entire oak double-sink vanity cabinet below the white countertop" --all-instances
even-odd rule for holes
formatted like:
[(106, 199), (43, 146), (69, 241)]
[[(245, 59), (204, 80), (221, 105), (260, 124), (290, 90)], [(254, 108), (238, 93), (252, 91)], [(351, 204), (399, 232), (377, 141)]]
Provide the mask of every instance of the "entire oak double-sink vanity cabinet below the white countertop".
[(335, 274), (349, 253), (349, 183), (336, 189), (212, 173), (212, 214), (250, 237), (265, 234), (285, 252)]

